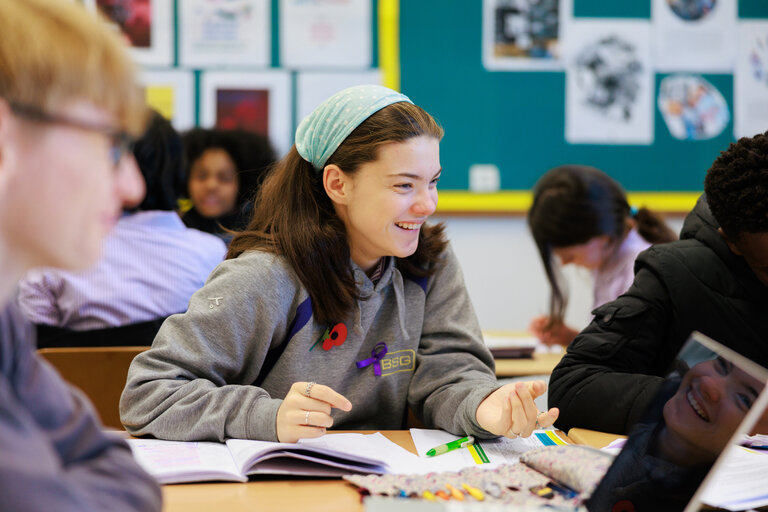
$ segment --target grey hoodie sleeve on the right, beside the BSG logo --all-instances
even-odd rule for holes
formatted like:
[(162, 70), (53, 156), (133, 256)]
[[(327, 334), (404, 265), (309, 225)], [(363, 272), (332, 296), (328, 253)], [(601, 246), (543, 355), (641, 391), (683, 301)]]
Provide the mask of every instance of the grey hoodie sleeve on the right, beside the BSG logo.
[(483, 342), (464, 276), (449, 246), (428, 280), (408, 403), (428, 426), (457, 435), (495, 437), (477, 424), (475, 413), (498, 387), (493, 356)]

